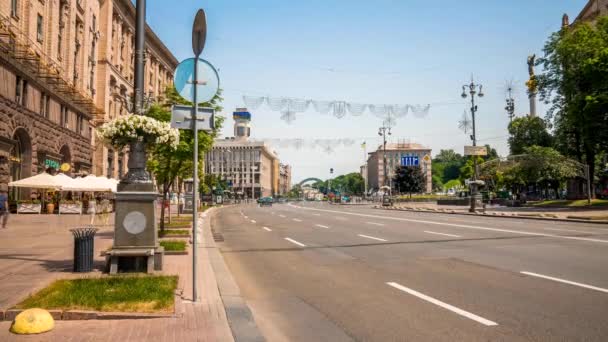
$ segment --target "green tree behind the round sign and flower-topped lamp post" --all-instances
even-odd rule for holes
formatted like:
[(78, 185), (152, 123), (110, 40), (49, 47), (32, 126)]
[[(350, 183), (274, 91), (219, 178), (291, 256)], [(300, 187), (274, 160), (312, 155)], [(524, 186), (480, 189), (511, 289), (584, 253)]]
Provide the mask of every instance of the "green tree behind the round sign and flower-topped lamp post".
[[(220, 103), (222, 101), (221, 91), (209, 103), (202, 103), (203, 106), (215, 108), (220, 111)], [(171, 106), (175, 104), (191, 105), (190, 102), (179, 96), (175, 88), (167, 87), (165, 90), (165, 100), (162, 103), (156, 103), (150, 107), (147, 115), (159, 121), (171, 121)], [(199, 160), (203, 160), (204, 153), (211, 149), (213, 139), (222, 127), (223, 118), (216, 116), (215, 131), (212, 133), (198, 132), (198, 150)], [(161, 188), (163, 200), (168, 199), (168, 194), (178, 178), (188, 178), (193, 175), (192, 156), (194, 154), (194, 133), (191, 130), (180, 130), (180, 142), (176, 150), (170, 149), (165, 145), (154, 145), (150, 149), (150, 158), (148, 159), (148, 170), (154, 174), (157, 184)], [(203, 163), (199, 164), (202, 170)], [(202, 174), (202, 172), (200, 172)], [(204, 182), (201, 182), (201, 187)], [(196, 203), (196, 202), (195, 202)], [(165, 206), (161, 207), (160, 213), (160, 229), (165, 229)]]

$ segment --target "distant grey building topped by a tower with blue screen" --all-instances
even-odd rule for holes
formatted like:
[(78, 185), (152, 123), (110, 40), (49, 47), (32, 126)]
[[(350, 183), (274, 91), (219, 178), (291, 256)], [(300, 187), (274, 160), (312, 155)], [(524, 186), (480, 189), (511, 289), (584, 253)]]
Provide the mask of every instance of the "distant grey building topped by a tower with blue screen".
[(246, 108), (237, 108), (232, 117), (235, 136), (215, 140), (205, 156), (205, 173), (227, 180), (232, 184), (232, 191), (242, 198), (278, 194), (277, 154), (263, 142), (249, 140), (251, 113)]

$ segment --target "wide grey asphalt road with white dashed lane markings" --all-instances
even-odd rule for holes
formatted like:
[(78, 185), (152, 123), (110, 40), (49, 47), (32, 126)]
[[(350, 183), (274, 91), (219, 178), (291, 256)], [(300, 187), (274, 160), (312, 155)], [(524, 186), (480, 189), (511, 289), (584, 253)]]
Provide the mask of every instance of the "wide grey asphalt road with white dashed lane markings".
[(212, 221), (269, 341), (608, 341), (608, 226), (297, 203)]

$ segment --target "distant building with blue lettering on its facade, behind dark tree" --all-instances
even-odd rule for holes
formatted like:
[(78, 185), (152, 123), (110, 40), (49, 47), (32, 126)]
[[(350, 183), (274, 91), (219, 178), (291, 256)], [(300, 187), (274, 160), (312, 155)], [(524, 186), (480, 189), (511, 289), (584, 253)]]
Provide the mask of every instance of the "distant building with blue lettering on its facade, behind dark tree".
[(395, 169), (403, 162), (407, 165), (418, 164), (426, 176), (426, 192), (430, 193), (433, 190), (430, 148), (414, 143), (388, 143), (386, 144), (386, 161), (387, 175), (384, 174), (383, 146), (380, 145), (376, 151), (368, 153), (368, 191), (375, 192), (384, 185), (391, 186)]

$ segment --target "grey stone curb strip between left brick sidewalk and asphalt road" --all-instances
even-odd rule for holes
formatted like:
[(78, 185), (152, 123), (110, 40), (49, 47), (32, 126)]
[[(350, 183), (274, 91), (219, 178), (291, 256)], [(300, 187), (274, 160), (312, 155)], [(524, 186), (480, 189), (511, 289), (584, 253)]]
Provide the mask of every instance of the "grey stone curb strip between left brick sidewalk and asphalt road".
[(202, 245), (204, 248), (207, 248), (209, 253), (209, 262), (211, 263), (211, 268), (215, 272), (217, 286), (224, 304), (224, 309), (226, 310), (226, 318), (228, 319), (232, 336), (237, 342), (266, 341), (255, 322), (251, 309), (249, 309), (249, 306), (247, 306), (247, 303), (241, 296), (241, 290), (232, 277), (232, 273), (230, 273), (219, 247), (217, 247), (215, 240), (213, 239), (211, 233), (211, 218), (216, 210), (219, 209), (214, 207), (205, 211), (207, 215), (205, 219), (203, 219)]

